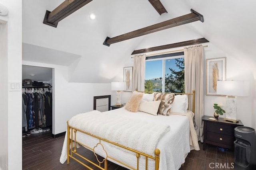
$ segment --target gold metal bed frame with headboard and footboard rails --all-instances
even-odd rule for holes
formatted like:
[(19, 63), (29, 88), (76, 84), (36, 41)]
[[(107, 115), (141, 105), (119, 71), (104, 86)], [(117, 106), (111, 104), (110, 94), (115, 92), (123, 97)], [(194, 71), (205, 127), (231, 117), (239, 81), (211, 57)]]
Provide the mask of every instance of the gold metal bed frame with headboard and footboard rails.
[[(153, 92), (145, 92), (145, 93), (153, 93)], [(190, 101), (190, 96), (192, 96), (192, 111), (194, 113), (194, 110), (195, 110), (195, 90), (192, 91), (192, 93), (174, 93), (174, 94), (186, 94), (188, 96), (188, 108), (189, 108), (189, 101)], [(82, 164), (83, 166), (85, 166), (86, 168), (88, 168), (89, 170), (93, 170), (92, 168), (90, 168), (88, 165), (86, 165), (84, 162), (82, 162), (81, 160), (78, 160), (78, 158), (76, 158), (75, 156), (77, 155), (78, 157), (82, 158), (83, 160), (89, 162), (90, 164), (96, 166), (97, 168), (101, 169), (101, 170), (107, 170), (108, 169), (108, 163), (107, 163), (107, 159), (110, 158), (132, 170), (138, 170), (139, 169), (139, 157), (140, 156), (144, 156), (145, 157), (145, 169), (147, 170), (148, 169), (148, 158), (152, 159), (152, 160), (155, 160), (155, 170), (159, 170), (159, 162), (160, 162), (160, 159), (159, 159), (159, 156), (160, 156), (160, 150), (159, 149), (155, 149), (154, 150), (154, 154), (155, 156), (150, 156), (148, 154), (144, 154), (138, 150), (134, 150), (134, 149), (130, 149), (128, 147), (124, 147), (122, 145), (119, 145), (118, 143), (114, 143), (114, 142), (111, 142), (111, 141), (108, 141), (106, 139), (103, 139), (101, 137), (98, 137), (98, 136), (95, 136), (95, 135), (92, 135), (90, 133), (87, 133), (85, 131), (82, 131), (80, 129), (76, 129), (74, 127), (71, 127), (70, 125), (68, 125), (68, 121), (67, 121), (67, 136), (68, 136), (68, 140), (67, 140), (67, 163), (69, 164), (70, 163), (70, 158), (73, 158), (74, 160), (76, 160), (77, 162), (79, 162), (80, 164)], [(81, 133), (84, 133), (84, 134), (87, 134), (91, 137), (94, 137), (96, 139), (99, 140), (99, 142), (96, 144), (96, 146), (94, 146), (93, 148), (92, 147), (89, 147), (87, 145), (84, 145), (83, 143), (80, 143), (76, 140), (76, 133), (77, 131), (81, 132)], [(70, 133), (71, 133), (71, 139), (70, 139)], [(73, 140), (72, 140), (73, 139)], [(121, 162), (120, 160), (117, 160), (116, 158), (113, 158), (112, 156), (109, 156), (108, 153), (106, 152), (106, 150), (104, 149), (104, 146), (102, 145), (102, 141), (105, 141), (107, 143), (110, 143), (112, 145), (115, 145), (117, 147), (120, 147), (120, 148), (123, 148), (123, 149), (126, 149), (126, 150), (130, 150), (131, 152), (134, 152), (136, 154), (136, 158), (137, 158), (137, 167), (134, 168), (132, 166), (129, 166), (128, 164), (124, 163), (124, 162)], [(92, 162), (91, 160), (89, 160), (88, 158), (82, 156), (81, 154), (78, 154), (77, 153), (77, 145), (82, 145), (84, 147), (86, 147), (87, 149), (90, 149), (92, 150), (92, 152), (94, 153), (94, 155), (96, 156), (96, 153), (94, 152), (94, 149), (98, 146), (98, 145), (101, 145), (103, 150), (106, 152), (106, 158), (104, 158), (102, 161), (98, 160), (98, 157), (96, 156), (96, 159), (98, 161), (99, 164), (95, 164), (94, 162)], [(100, 165), (104, 163), (104, 168), (102, 168)]]

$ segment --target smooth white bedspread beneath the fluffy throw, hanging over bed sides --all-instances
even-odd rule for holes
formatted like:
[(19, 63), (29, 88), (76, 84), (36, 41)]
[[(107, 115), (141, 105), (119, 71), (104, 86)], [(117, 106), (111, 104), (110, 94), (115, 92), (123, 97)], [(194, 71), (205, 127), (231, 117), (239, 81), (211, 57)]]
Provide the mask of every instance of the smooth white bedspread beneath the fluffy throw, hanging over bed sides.
[[(170, 131), (168, 131), (158, 142), (156, 148), (160, 149), (160, 170), (178, 170), (182, 163), (185, 162), (186, 155), (190, 152), (190, 123), (187, 116), (184, 115), (150, 115), (144, 112), (136, 112), (132, 113), (127, 111), (124, 108), (114, 109), (108, 111), (106, 114), (110, 116), (119, 117), (120, 114), (122, 116), (127, 117), (129, 119), (132, 117), (133, 119), (147, 121), (149, 123), (156, 123), (162, 125), (169, 125)], [(62, 154), (60, 156), (60, 162), (63, 164), (66, 161), (67, 150), (66, 150), (66, 142), (67, 137), (65, 136)], [(90, 147), (94, 147), (97, 143), (97, 139), (92, 139), (92, 137), (77, 133), (78, 141), (86, 141), (86, 145)], [(117, 149), (113, 145), (109, 145), (104, 143), (104, 149), (107, 150), (109, 156), (113, 156), (116, 158), (118, 155), (118, 159), (122, 162), (129, 164), (130, 166), (136, 167), (136, 156), (129, 152), (124, 152), (123, 150)], [(98, 151), (100, 155), (104, 156), (104, 152)], [(113, 160), (110, 160), (114, 163), (117, 163)], [(140, 169), (144, 168), (144, 158), (140, 157)], [(117, 163), (118, 164), (118, 163)], [(148, 169), (154, 169), (154, 161), (148, 161)], [(126, 167), (127, 168), (127, 167)]]

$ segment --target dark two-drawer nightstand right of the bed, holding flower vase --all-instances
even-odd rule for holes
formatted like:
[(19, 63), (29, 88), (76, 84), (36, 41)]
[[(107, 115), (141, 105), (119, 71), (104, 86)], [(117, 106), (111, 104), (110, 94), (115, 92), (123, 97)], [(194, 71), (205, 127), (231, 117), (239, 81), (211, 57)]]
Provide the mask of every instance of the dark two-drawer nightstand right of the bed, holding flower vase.
[[(218, 147), (234, 149), (234, 129), (238, 126), (243, 126), (243, 123), (239, 120), (237, 123), (230, 121), (224, 121), (219, 117), (217, 120), (209, 120), (212, 116), (206, 116), (202, 118), (204, 121), (204, 145), (203, 150), (206, 149), (206, 144), (215, 145)], [(214, 117), (212, 117), (214, 118)]]

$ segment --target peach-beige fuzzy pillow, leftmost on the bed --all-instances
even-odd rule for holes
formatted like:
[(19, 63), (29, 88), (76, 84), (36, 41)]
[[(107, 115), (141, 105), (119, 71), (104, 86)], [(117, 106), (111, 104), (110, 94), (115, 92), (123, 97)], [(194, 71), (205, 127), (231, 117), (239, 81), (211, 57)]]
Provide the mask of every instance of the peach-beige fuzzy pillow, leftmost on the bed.
[(132, 112), (137, 112), (140, 106), (143, 93), (133, 92), (132, 96), (125, 105), (125, 109)]

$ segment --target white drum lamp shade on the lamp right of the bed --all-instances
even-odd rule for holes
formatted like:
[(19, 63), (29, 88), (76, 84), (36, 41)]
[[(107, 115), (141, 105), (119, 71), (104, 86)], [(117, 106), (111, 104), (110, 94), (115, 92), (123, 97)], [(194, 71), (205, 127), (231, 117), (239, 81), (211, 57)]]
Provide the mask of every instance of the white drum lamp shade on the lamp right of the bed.
[(248, 81), (217, 81), (216, 94), (227, 96), (248, 96)]

